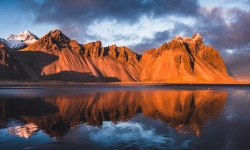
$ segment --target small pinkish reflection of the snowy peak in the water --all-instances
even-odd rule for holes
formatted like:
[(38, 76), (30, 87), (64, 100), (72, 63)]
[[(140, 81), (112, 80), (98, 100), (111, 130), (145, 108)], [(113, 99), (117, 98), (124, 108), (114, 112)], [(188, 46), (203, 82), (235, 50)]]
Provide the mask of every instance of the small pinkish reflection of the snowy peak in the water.
[(11, 135), (17, 135), (27, 139), (37, 130), (37, 126), (30, 123), (22, 126), (9, 127), (7, 129)]

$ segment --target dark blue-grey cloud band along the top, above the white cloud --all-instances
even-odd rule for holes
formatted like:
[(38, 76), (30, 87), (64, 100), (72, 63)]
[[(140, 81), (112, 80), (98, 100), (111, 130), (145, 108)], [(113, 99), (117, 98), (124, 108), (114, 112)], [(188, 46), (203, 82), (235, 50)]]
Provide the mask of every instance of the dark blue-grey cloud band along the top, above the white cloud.
[(35, 7), (34, 2), (25, 4), (29, 9), (35, 8), (36, 22), (59, 24), (88, 24), (102, 19), (134, 22), (143, 15), (153, 18), (169, 14), (194, 16), (199, 10), (197, 0), (44, 0)]

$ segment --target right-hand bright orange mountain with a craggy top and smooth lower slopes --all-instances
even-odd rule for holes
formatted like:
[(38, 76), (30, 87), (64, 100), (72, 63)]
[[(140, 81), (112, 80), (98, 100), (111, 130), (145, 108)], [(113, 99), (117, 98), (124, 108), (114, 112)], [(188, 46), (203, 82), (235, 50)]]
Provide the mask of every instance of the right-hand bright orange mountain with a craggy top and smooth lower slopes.
[(219, 52), (206, 46), (202, 37), (177, 36), (169, 43), (142, 54), (141, 81), (234, 82)]

